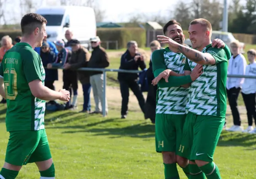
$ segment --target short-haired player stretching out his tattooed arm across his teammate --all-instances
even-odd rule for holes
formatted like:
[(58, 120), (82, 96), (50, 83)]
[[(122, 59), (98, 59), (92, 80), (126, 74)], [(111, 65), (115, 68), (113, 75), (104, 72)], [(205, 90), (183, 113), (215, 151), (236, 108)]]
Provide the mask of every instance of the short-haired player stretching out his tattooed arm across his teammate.
[(225, 123), (228, 58), (225, 50), (212, 47), (212, 25), (206, 19), (191, 21), (189, 34), (193, 49), (171, 38), (158, 36), (158, 40), (167, 43), (170, 50), (189, 59), (185, 63), (185, 75), (189, 75), (197, 64), (203, 65), (203, 74), (190, 85), (187, 115), (177, 154), (190, 160), (191, 179), (203, 179), (201, 171), (207, 179), (221, 179), (213, 154)]

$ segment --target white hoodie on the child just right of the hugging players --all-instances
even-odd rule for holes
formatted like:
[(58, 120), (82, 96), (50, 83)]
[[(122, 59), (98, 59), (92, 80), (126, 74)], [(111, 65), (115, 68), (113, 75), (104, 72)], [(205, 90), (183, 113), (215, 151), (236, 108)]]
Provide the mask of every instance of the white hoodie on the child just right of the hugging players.
[[(238, 54), (235, 58), (232, 55), (229, 60), (228, 75), (245, 75), (245, 68), (247, 66), (247, 61), (242, 54)], [(242, 88), (244, 78), (227, 78), (226, 88), (230, 90), (231, 88)]]

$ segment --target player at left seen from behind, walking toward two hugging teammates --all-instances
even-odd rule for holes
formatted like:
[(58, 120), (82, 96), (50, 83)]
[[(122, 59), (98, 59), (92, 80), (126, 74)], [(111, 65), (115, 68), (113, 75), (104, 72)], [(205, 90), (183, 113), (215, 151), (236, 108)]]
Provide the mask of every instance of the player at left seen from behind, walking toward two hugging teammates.
[(0, 64), (0, 94), (7, 99), (6, 128), (9, 142), (0, 179), (15, 179), (27, 163), (35, 162), (40, 179), (54, 179), (55, 169), (44, 129), (45, 100), (68, 102), (69, 92), (44, 86), (45, 72), (34, 51), (46, 37), (46, 19), (28, 13), (22, 17), (22, 39)]

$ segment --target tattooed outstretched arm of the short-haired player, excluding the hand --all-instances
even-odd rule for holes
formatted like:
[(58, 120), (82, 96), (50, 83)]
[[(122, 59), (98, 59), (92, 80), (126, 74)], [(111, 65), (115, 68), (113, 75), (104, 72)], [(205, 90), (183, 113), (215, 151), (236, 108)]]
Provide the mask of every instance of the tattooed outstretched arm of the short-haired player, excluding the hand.
[(178, 46), (178, 52), (185, 55), (189, 60), (203, 65), (213, 65), (216, 64), (215, 58), (209, 53), (203, 53), (201, 51), (194, 50), (190, 47), (185, 47), (183, 45)]

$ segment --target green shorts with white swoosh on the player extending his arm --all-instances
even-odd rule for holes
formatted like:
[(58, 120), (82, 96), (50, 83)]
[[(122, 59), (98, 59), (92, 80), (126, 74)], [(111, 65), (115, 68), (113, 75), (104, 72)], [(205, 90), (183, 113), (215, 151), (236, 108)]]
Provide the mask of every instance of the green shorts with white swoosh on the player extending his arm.
[(224, 123), (225, 117), (195, 115), (189, 112), (177, 155), (191, 161), (212, 162)]

